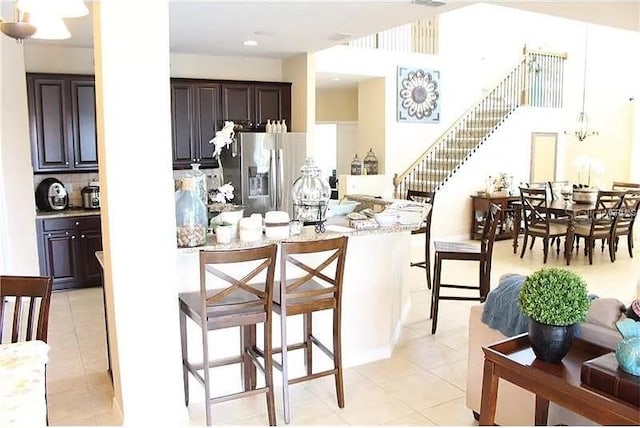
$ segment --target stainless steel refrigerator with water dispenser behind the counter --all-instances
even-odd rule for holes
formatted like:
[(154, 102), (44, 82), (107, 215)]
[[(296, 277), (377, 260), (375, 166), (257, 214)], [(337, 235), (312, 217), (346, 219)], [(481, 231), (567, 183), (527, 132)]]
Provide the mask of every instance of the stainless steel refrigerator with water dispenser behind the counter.
[(240, 132), (220, 159), (224, 182), (234, 187), (233, 203), (245, 206), (245, 216), (286, 211), (293, 218), (291, 187), (306, 157), (307, 134)]

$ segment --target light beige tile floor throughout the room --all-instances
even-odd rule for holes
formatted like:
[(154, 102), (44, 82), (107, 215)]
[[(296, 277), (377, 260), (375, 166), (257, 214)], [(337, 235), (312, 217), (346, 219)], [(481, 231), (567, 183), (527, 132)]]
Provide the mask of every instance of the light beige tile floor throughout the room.
[[(420, 248), (419, 236), (414, 242)], [(416, 250), (418, 251), (418, 250)], [(416, 254), (419, 254), (416, 252)], [(537, 243), (520, 259), (511, 241), (496, 243), (492, 285), (504, 273), (527, 274), (542, 266)], [(564, 267), (562, 258), (549, 257), (547, 266)], [(458, 262), (444, 267), (445, 281), (472, 281), (477, 268)], [(606, 251), (590, 266), (582, 255), (570, 269), (587, 280), (590, 292), (616, 297), (624, 303), (639, 297), (640, 257), (630, 259), (621, 248), (611, 264)], [(476, 425), (465, 407), (468, 312), (475, 302), (446, 301), (440, 306), (438, 332), (431, 335), (428, 320), (430, 292), (424, 286), (424, 271), (411, 269), (412, 308), (402, 336), (390, 359), (345, 370), (346, 407), (339, 409), (332, 378), (292, 387), (293, 425)], [(107, 375), (104, 311), (100, 288), (56, 292), (52, 297), (47, 369), (47, 399), (51, 425), (119, 425), (112, 411), (110, 379)], [(275, 372), (276, 382), (278, 373)], [(199, 395), (199, 394), (196, 394)], [(276, 391), (278, 424), (282, 400)], [(214, 423), (265, 425), (264, 396), (215, 405)], [(204, 424), (202, 401), (192, 395), (189, 405), (192, 425)]]

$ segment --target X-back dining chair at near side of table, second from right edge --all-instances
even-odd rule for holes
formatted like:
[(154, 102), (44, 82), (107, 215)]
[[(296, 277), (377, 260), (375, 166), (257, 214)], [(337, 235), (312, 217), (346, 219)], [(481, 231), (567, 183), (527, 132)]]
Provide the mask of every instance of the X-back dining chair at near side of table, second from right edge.
[(593, 248), (596, 239), (605, 239), (609, 247), (609, 259), (616, 261), (615, 236), (620, 208), (625, 197), (624, 191), (599, 190), (596, 205), (588, 218), (576, 218), (575, 236), (585, 240), (585, 255), (593, 264)]

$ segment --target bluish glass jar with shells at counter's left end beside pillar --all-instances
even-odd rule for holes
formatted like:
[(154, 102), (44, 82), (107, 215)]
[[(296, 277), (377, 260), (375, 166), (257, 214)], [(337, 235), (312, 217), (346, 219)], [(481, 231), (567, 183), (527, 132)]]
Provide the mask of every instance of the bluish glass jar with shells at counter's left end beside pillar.
[(197, 247), (207, 242), (207, 207), (195, 192), (193, 177), (182, 180), (176, 195), (178, 247)]

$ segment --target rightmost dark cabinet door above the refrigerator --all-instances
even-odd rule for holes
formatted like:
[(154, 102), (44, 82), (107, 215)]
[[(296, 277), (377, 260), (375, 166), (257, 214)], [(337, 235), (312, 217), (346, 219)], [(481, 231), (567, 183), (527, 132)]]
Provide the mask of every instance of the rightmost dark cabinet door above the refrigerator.
[(286, 120), (291, 126), (291, 84), (268, 83), (254, 86), (255, 121), (264, 126), (268, 119)]

